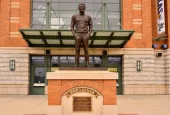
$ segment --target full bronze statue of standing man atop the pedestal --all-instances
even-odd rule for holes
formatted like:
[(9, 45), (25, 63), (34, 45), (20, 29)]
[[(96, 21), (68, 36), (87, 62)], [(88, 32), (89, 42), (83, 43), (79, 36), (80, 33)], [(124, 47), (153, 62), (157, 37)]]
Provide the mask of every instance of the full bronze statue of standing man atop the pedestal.
[(75, 67), (79, 66), (81, 43), (83, 44), (84, 47), (85, 66), (89, 67), (88, 39), (91, 35), (93, 27), (92, 18), (91, 16), (85, 14), (84, 11), (86, 9), (86, 5), (84, 3), (79, 4), (78, 9), (79, 14), (73, 15), (71, 20), (71, 31), (76, 41)]

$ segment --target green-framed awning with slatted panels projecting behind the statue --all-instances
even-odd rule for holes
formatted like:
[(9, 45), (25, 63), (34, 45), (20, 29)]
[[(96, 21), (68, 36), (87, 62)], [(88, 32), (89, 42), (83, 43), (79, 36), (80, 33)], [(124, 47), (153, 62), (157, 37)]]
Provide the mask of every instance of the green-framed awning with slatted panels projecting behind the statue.
[[(75, 47), (70, 30), (20, 29), (30, 47)], [(89, 38), (90, 48), (122, 48), (130, 40), (132, 30), (94, 30)]]

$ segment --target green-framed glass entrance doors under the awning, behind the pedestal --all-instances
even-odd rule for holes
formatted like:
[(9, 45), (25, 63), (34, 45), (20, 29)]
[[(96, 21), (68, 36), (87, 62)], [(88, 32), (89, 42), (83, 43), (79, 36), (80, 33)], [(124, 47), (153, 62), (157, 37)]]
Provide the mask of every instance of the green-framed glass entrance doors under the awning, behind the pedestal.
[[(80, 66), (84, 66), (81, 58)], [(74, 56), (31, 56), (30, 94), (44, 95), (47, 85), (46, 72), (56, 71), (59, 67), (73, 67)], [(123, 94), (122, 88), (122, 57), (121, 56), (90, 56), (91, 67), (107, 67), (110, 72), (118, 72), (117, 95)]]

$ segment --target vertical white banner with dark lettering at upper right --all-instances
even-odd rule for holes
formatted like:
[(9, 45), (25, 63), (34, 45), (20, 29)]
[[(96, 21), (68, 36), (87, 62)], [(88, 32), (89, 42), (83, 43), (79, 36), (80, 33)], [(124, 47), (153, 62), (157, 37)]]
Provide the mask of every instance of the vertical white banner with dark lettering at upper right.
[(158, 34), (165, 32), (165, 7), (164, 0), (157, 0), (158, 5)]

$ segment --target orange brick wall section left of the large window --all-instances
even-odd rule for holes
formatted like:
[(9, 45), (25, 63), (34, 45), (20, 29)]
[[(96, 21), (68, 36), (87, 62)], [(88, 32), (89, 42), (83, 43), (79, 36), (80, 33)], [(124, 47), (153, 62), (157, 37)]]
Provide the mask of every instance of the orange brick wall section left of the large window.
[(19, 33), (29, 28), (31, 0), (1, 0), (0, 47), (27, 47)]

